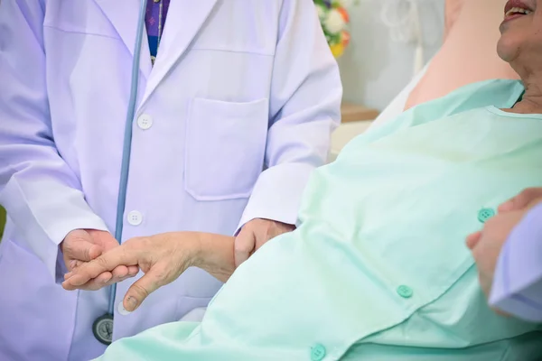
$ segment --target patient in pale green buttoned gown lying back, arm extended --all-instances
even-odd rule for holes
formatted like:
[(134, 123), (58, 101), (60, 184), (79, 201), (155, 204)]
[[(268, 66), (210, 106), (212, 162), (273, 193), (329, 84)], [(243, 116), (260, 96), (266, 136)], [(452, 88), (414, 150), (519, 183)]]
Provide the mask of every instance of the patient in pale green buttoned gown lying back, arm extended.
[(124, 300), (135, 312), (187, 267), (229, 278), (201, 323), (120, 339), (101, 359), (541, 359), (540, 326), (488, 308), (464, 243), (500, 203), (542, 185), (542, 0), (521, 6), (508, 5), (498, 50), (522, 81), (473, 84), (353, 140), (314, 172), (297, 229), (235, 273), (233, 237), (180, 232), (68, 274), (73, 290), (139, 265)]

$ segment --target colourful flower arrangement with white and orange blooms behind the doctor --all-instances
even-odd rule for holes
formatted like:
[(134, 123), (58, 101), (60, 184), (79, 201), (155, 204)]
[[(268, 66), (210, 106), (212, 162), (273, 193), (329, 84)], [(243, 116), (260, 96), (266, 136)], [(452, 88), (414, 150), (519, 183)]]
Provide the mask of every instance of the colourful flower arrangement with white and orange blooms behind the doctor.
[(350, 23), (347, 9), (351, 3), (352, 0), (314, 0), (323, 33), (335, 58), (341, 57), (350, 43), (346, 25)]

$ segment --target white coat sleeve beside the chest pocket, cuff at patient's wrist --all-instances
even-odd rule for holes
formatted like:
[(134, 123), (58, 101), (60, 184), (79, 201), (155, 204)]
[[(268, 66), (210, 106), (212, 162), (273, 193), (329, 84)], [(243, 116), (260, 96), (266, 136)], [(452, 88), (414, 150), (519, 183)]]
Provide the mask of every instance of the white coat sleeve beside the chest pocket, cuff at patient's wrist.
[(341, 122), (341, 76), (313, 0), (284, 0), (270, 91), (266, 171), (238, 230), (254, 218), (295, 224), (312, 171), (328, 157)]

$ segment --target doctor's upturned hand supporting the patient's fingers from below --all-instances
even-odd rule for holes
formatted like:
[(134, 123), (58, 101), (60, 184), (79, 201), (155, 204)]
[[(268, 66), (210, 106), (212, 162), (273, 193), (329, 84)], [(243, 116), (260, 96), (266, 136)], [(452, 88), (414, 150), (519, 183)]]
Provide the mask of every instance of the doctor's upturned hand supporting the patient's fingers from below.
[[(99, 255), (118, 246), (117, 240), (109, 232), (95, 229), (77, 229), (71, 231), (61, 243), (64, 263), (69, 272), (76, 270)], [(83, 289), (98, 290), (111, 282), (119, 282), (138, 273), (137, 267), (120, 265), (110, 272), (98, 274), (89, 280)]]

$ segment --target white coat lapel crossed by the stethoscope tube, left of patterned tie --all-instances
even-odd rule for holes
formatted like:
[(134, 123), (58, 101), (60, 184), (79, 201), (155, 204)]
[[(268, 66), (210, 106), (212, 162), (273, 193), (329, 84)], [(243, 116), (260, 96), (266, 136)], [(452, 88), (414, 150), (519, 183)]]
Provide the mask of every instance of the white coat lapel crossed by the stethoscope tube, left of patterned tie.
[[(126, 48), (134, 57), (135, 35), (137, 31), (137, 21), (139, 19), (139, 9), (141, 2), (139, 0), (94, 0), (106, 15), (109, 22), (113, 24), (118, 35), (125, 43)], [(149, 50), (149, 42), (146, 37), (146, 28), (143, 29), (144, 36), (141, 43), (141, 57), (139, 60), (139, 69), (148, 79), (153, 65)]]

